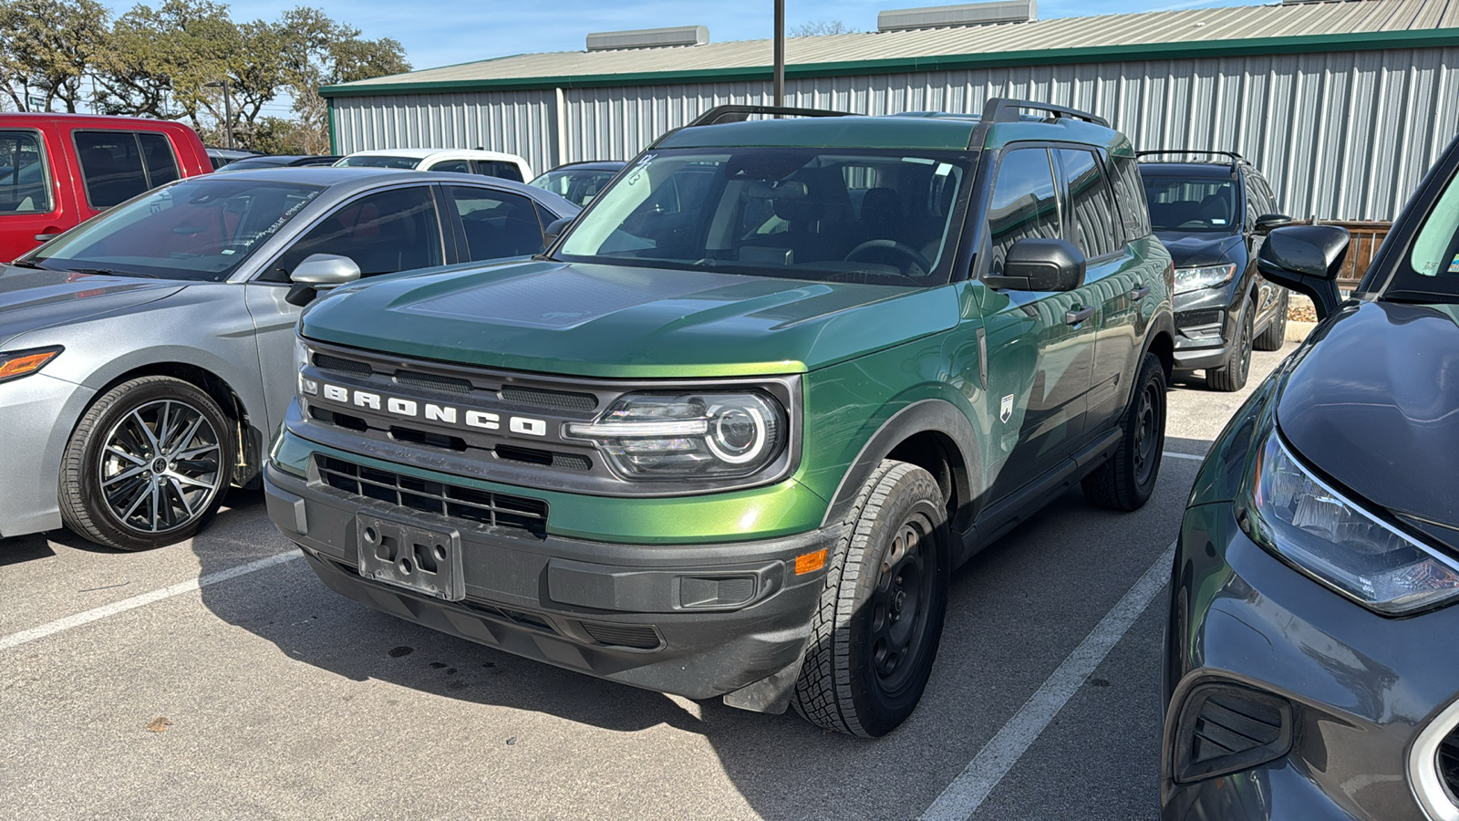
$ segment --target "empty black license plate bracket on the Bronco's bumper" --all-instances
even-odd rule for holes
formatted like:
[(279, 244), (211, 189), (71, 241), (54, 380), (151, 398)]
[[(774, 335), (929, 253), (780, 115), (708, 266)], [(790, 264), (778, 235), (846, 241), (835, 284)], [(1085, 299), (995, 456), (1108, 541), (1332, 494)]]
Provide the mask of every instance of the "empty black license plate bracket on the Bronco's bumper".
[(457, 529), (357, 513), (355, 533), (365, 578), (446, 602), (465, 597)]

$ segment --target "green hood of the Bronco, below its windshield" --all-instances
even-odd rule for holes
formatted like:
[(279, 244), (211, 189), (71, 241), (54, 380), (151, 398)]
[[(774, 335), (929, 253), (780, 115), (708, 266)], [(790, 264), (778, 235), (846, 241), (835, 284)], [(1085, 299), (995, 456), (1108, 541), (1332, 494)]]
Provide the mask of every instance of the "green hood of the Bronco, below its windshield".
[(684, 378), (808, 371), (957, 321), (951, 288), (524, 261), (352, 286), (301, 330), (448, 362)]

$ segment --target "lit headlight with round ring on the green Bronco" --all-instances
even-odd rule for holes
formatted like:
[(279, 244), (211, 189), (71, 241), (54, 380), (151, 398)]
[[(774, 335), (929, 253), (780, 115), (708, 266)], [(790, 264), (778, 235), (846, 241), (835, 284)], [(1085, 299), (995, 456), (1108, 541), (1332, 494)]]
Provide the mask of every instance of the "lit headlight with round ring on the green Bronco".
[(630, 393), (565, 435), (592, 441), (626, 479), (743, 478), (779, 456), (786, 419), (759, 392)]

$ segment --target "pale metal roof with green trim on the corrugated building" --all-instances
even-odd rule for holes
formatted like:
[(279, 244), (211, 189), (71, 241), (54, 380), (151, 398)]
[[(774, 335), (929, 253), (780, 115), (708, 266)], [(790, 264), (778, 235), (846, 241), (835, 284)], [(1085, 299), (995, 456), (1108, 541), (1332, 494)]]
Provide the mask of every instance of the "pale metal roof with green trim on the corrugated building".
[[(1459, 1), (1329, 0), (797, 37), (786, 77), (1459, 45)], [(324, 96), (763, 80), (772, 42), (516, 54), (325, 86)]]

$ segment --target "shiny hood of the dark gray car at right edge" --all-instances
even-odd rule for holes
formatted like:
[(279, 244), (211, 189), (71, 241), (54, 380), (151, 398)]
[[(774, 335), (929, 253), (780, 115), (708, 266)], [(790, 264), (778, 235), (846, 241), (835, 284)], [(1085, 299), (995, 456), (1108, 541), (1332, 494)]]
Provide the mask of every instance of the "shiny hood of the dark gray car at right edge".
[(1360, 302), (1334, 314), (1288, 377), (1277, 421), (1323, 473), (1459, 546), (1456, 313)]

